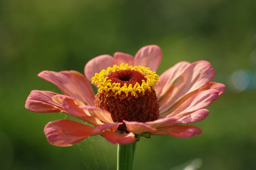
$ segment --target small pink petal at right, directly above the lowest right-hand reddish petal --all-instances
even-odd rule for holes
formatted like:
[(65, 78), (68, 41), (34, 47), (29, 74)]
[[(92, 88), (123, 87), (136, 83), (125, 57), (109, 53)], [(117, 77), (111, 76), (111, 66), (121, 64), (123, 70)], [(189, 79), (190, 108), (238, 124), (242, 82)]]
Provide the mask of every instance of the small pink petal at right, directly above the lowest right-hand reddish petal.
[(193, 113), (188, 113), (187, 115), (183, 115), (180, 119), (177, 120), (177, 123), (194, 123), (204, 120), (206, 116), (208, 116), (209, 111), (207, 109), (201, 109), (195, 111)]

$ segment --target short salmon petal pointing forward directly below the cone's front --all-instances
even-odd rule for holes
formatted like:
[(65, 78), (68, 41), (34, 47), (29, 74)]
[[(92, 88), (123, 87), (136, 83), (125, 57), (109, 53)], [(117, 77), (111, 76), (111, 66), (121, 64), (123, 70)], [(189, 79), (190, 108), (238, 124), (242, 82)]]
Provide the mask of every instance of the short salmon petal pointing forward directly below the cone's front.
[(132, 132), (134, 134), (141, 134), (143, 132), (151, 131), (151, 130), (157, 130), (155, 127), (151, 127), (149, 125), (146, 125), (143, 122), (128, 122), (128, 121), (123, 121), (126, 125), (126, 129), (129, 132)]

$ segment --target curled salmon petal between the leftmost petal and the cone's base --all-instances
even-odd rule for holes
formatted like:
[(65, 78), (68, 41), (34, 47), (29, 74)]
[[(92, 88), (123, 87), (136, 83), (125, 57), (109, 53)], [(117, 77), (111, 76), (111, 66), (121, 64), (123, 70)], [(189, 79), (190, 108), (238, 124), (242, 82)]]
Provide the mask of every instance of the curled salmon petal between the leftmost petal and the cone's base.
[(79, 108), (81, 102), (79, 102), (77, 99), (73, 99), (69, 96), (64, 95), (53, 96), (53, 99), (56, 98), (61, 99), (61, 104), (64, 107), (64, 111), (66, 111), (68, 115), (81, 119), (84, 122), (90, 123), (92, 125), (103, 124), (99, 119), (97, 119), (94, 116), (91, 116), (88, 111), (84, 111), (83, 109)]

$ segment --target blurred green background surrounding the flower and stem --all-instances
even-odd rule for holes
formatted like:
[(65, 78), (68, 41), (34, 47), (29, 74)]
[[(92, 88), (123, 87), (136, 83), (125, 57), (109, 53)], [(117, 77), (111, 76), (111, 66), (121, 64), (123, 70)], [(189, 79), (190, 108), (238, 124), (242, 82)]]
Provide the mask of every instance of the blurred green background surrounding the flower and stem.
[(55, 147), (43, 133), (61, 113), (24, 108), (32, 90), (60, 92), (44, 70), (83, 73), (89, 59), (162, 48), (158, 74), (208, 60), (226, 92), (196, 123), (202, 135), (142, 138), (134, 170), (169, 170), (200, 158), (200, 170), (256, 168), (255, 0), (0, 0), (0, 170), (114, 170), (116, 145), (93, 136)]

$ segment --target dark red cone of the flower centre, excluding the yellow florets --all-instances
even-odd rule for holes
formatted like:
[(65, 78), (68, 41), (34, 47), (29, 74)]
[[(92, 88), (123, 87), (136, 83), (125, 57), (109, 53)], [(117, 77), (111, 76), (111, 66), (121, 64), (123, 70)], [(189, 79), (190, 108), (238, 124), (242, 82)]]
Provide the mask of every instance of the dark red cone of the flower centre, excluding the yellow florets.
[[(135, 70), (112, 72), (108, 75), (108, 80), (111, 80), (111, 83), (120, 83), (121, 87), (125, 84), (127, 85), (126, 87), (130, 84), (134, 87), (134, 85), (137, 85), (136, 83), (142, 85), (143, 80), (147, 81), (145, 75)], [(159, 117), (157, 96), (152, 87), (148, 88), (145, 89), (144, 93), (135, 91), (136, 95), (131, 94), (131, 92), (126, 95), (123, 91), (120, 94), (116, 94), (112, 90), (98, 91), (95, 106), (110, 112), (114, 122), (122, 122), (123, 120), (148, 122), (157, 120)], [(125, 124), (120, 125), (118, 130), (127, 132)]]

